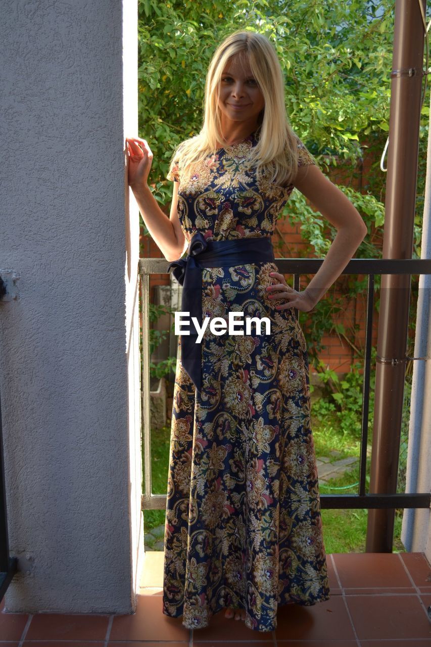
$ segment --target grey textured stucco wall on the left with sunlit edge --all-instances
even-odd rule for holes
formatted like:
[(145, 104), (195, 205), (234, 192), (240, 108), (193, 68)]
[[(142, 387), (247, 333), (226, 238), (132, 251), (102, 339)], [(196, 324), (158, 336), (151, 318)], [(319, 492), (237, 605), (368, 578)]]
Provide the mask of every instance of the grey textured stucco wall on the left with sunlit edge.
[(8, 611), (131, 613), (140, 514), (135, 0), (1, 8)]

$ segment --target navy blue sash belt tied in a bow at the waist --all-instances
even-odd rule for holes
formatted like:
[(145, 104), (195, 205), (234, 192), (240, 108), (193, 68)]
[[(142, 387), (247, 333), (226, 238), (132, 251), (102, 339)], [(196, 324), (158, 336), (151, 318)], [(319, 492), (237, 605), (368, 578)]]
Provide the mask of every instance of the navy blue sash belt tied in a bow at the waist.
[[(246, 263), (274, 261), (274, 249), (269, 236), (238, 238), (236, 240), (206, 241), (201, 232), (196, 232), (187, 248), (186, 258), (171, 261), (168, 272), (182, 285), (182, 312), (196, 317), (202, 326), (202, 268), (234, 267)], [(201, 344), (197, 332), (181, 335), (181, 364), (193, 384), (201, 390)]]

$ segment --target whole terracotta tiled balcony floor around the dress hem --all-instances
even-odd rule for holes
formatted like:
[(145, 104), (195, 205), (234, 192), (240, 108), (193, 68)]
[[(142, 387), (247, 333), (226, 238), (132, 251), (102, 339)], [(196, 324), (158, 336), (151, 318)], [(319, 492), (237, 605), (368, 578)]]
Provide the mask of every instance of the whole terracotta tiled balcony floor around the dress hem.
[(147, 553), (133, 615), (5, 613), (0, 647), (431, 647), (431, 567), (422, 553), (327, 555), (332, 597), (280, 607), (271, 633), (214, 615), (190, 631), (162, 613), (163, 553)]

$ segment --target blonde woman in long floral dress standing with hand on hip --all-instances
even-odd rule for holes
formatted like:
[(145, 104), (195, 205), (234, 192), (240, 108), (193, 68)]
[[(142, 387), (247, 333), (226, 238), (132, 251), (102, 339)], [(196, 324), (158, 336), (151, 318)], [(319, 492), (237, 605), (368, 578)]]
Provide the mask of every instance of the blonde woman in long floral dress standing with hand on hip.
[[(212, 56), (203, 127), (171, 159), (170, 218), (147, 185), (148, 142), (127, 145), (129, 184), (195, 327), (232, 312), (271, 323), (269, 334), (207, 327), (197, 343), (190, 325), (179, 336), (163, 613), (197, 629), (226, 607), (225, 617), (272, 631), (278, 606), (330, 597), (307, 347), (293, 308), (313, 309), (366, 226), (293, 132), (280, 62), (261, 34), (235, 32)], [(337, 228), (302, 291), (277, 271), (271, 244), (294, 187)]]

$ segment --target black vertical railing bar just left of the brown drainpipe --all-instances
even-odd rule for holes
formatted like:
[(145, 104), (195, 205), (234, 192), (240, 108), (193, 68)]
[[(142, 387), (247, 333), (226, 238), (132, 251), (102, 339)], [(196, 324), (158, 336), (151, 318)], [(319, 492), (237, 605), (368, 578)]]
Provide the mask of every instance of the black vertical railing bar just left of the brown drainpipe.
[(368, 275), (367, 287), (367, 314), (365, 327), (365, 357), (364, 357), (364, 381), (362, 382), (362, 420), (360, 432), (360, 455), (359, 455), (359, 496), (365, 494), (366, 470), (367, 470), (367, 446), (368, 446), (368, 416), (370, 412), (370, 370), (371, 370), (371, 345), (373, 337), (373, 297), (374, 297), (374, 274)]

